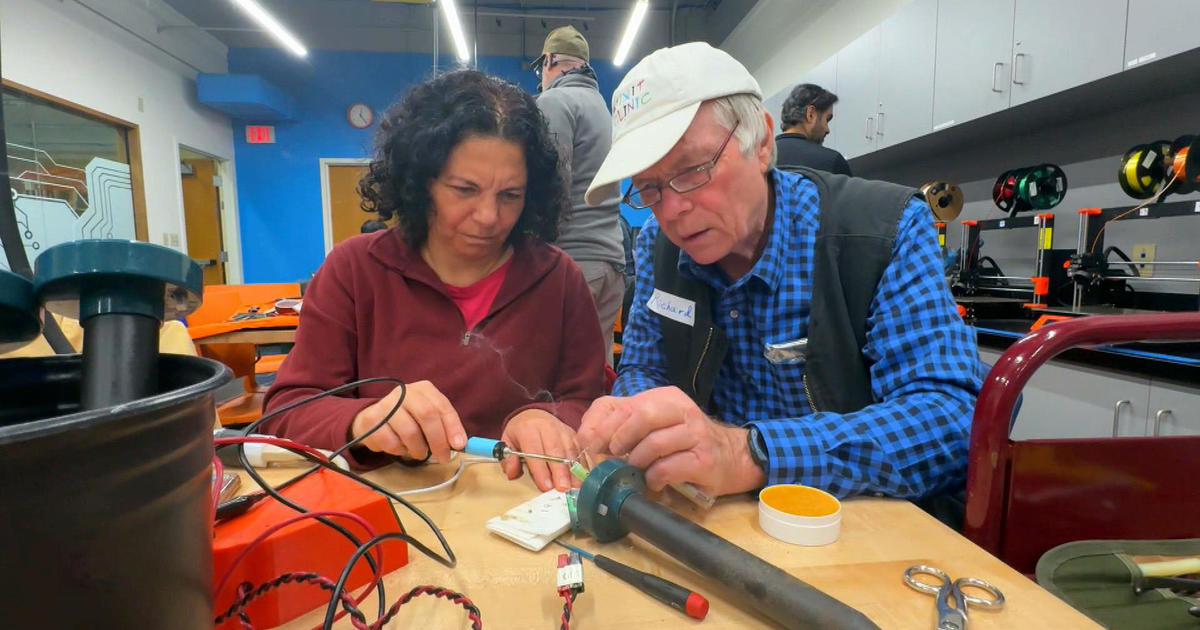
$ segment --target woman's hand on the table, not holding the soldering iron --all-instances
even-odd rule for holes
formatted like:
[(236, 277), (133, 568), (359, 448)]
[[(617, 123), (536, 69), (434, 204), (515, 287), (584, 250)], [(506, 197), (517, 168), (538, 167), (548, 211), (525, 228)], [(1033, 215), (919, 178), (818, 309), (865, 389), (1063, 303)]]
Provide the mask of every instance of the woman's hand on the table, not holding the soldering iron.
[[(571, 460), (580, 454), (575, 431), (541, 409), (526, 409), (512, 416), (504, 427), (504, 434), (500, 436), (500, 439), (509, 448), (518, 451)], [(504, 460), (502, 466), (509, 479), (521, 476), (521, 460), (518, 457), (509, 457)], [(576, 487), (580, 485), (580, 480), (571, 475), (564, 464), (526, 460), (526, 466), (529, 467), (529, 476), (533, 478), (533, 482), (542, 492), (551, 487), (566, 491), (571, 485)]]

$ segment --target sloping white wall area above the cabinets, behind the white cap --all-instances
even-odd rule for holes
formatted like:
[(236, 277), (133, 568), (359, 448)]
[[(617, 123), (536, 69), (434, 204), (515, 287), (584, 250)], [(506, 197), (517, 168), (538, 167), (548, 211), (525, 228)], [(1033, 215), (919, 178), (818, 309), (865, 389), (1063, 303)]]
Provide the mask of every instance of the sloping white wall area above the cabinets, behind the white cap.
[[(721, 49), (742, 61), (763, 96), (796, 82), (910, 0), (758, 0)], [(913, 37), (932, 37), (913, 34)]]

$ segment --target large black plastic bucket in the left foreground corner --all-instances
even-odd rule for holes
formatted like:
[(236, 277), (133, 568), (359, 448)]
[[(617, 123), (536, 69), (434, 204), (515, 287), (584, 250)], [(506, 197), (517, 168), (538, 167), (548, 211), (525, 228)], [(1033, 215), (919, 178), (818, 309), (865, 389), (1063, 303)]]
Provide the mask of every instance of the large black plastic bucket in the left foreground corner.
[(0, 360), (4, 628), (212, 628), (214, 390), (161, 355), (152, 396), (80, 410), (82, 358)]

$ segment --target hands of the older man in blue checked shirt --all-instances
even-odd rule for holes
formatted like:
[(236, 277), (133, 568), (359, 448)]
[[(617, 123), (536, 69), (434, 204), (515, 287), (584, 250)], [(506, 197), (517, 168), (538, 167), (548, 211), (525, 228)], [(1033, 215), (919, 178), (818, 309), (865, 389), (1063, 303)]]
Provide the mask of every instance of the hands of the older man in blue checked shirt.
[(713, 494), (734, 494), (767, 481), (750, 458), (746, 431), (706, 416), (678, 388), (656, 388), (598, 398), (583, 414), (580, 444), (594, 454), (628, 455), (653, 491), (691, 481)]

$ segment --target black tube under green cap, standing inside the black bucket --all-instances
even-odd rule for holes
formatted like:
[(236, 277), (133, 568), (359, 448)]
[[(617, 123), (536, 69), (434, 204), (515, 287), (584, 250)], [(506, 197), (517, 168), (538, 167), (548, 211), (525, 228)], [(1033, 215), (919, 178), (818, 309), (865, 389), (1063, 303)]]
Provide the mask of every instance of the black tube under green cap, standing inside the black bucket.
[(83, 322), (83, 408), (100, 409), (158, 391), (158, 320), (106, 313)]

